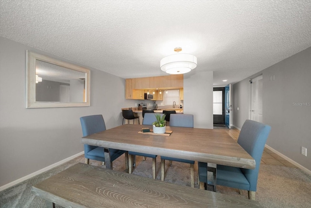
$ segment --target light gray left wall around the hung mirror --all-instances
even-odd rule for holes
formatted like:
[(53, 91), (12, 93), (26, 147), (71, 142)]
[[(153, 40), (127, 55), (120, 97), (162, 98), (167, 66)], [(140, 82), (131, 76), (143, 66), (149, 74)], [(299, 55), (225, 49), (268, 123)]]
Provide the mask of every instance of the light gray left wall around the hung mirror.
[[(121, 125), (121, 108), (135, 106), (123, 78), (6, 38), (0, 46), (0, 186), (83, 151), (81, 116), (103, 114), (110, 129)], [(91, 69), (91, 106), (26, 109), (26, 50)]]

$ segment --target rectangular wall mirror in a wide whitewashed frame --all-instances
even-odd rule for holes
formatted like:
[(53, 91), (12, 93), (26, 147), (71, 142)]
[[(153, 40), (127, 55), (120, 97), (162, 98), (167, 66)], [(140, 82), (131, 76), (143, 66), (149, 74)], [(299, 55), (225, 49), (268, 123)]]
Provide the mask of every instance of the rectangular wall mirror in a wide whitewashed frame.
[(90, 70), (27, 51), (26, 108), (90, 106)]

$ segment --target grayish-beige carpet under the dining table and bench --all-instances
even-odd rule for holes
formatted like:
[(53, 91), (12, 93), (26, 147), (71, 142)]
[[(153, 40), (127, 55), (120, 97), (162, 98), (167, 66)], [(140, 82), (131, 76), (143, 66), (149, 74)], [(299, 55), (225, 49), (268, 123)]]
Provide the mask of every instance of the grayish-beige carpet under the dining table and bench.
[[(31, 187), (52, 175), (65, 170), (72, 165), (84, 163), (84, 155), (81, 155), (69, 162), (41, 173), (31, 179), (17, 184), (14, 187), (0, 192), (0, 208), (44, 208), (46, 201), (35, 196)], [(91, 160), (91, 165), (101, 166), (101, 162)], [(104, 166), (103, 166), (104, 167)], [(156, 179), (161, 178), (160, 157), (156, 162)], [(113, 169), (125, 171), (124, 156), (122, 155), (113, 162)], [(181, 186), (190, 186), (190, 164), (173, 162), (172, 166), (166, 161), (165, 181)], [(197, 164), (194, 166), (194, 186), (197, 184)], [(152, 159), (137, 157), (137, 167), (133, 174), (152, 178)], [(212, 190), (211, 186), (207, 187)], [(217, 186), (217, 192), (247, 198), (247, 191), (243, 195), (238, 189)], [(256, 201), (264, 208), (311, 208), (311, 175), (297, 168), (260, 165)], [(59, 208), (59, 206), (56, 206)]]

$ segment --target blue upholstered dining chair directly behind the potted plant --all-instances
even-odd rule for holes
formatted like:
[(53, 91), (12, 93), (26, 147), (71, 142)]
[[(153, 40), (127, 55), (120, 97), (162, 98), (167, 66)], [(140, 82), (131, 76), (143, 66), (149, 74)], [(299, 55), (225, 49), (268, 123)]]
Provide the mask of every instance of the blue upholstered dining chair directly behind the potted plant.
[[(162, 113), (159, 113), (161, 114), (161, 116), (163, 116)], [(152, 125), (153, 122), (156, 121), (156, 118), (155, 118), (155, 113), (145, 113), (144, 114), (144, 119), (142, 120), (142, 124), (143, 125)], [(136, 151), (129, 151), (128, 152), (129, 154), (129, 167), (133, 167), (133, 160), (134, 160), (134, 157), (136, 155), (138, 156), (143, 156), (144, 159), (145, 157), (151, 157), (152, 158), (152, 177), (153, 179), (155, 179), (155, 174), (156, 174), (156, 156), (155, 154), (147, 154), (147, 153), (141, 153), (141, 152), (136, 152)], [(129, 173), (132, 173), (131, 172), (131, 168), (129, 169)]]

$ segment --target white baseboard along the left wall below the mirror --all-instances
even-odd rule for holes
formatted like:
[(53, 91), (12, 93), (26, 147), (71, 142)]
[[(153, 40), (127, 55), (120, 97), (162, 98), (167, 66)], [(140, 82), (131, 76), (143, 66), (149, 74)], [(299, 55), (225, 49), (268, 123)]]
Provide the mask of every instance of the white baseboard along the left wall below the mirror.
[(68, 162), (69, 160), (72, 160), (73, 158), (76, 158), (76, 157), (78, 157), (78, 156), (80, 156), (80, 155), (82, 155), (82, 154), (84, 154), (84, 151), (82, 151), (82, 152), (80, 152), (80, 153), (77, 153), (77, 154), (75, 154), (75, 155), (72, 155), (72, 156), (70, 156), (70, 157), (68, 157), (68, 158), (66, 158), (66, 159), (64, 159), (64, 160), (61, 160), (61, 161), (59, 161), (59, 162), (57, 162), (57, 163), (54, 163), (54, 164), (52, 164), (52, 165), (50, 165), (50, 166), (48, 166), (48, 167), (45, 167), (45, 168), (43, 168), (43, 169), (41, 169), (41, 170), (35, 171), (35, 172), (33, 172), (33, 173), (29, 174), (29, 175), (26, 175), (26, 176), (24, 176), (24, 177), (22, 177), (22, 178), (19, 178), (19, 179), (15, 180), (15, 181), (13, 181), (13, 182), (11, 182), (11, 183), (8, 183), (8, 184), (6, 184), (6, 185), (4, 185), (4, 186), (1, 186), (1, 187), (0, 187), (0, 191), (2, 191), (2, 190), (4, 190), (4, 189), (7, 189), (7, 188), (10, 188), (10, 187), (12, 187), (12, 186), (14, 186), (14, 185), (16, 185), (16, 184), (18, 184), (18, 183), (20, 183), (20, 182), (23, 182), (23, 181), (25, 181), (25, 180), (27, 180), (27, 179), (29, 179), (29, 178), (32, 178), (32, 177), (34, 177), (34, 176), (36, 176), (36, 175), (38, 175), (38, 174), (40, 174), (40, 173), (42, 173), (42, 172), (45, 172), (45, 171), (50, 170), (50, 169), (52, 169), (52, 168), (55, 168), (56, 166), (59, 166), (59, 165), (61, 165), (61, 164), (63, 164), (63, 163), (66, 163), (66, 162)]

